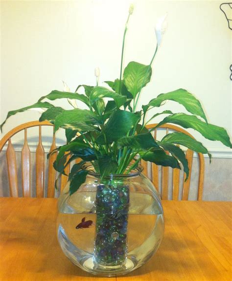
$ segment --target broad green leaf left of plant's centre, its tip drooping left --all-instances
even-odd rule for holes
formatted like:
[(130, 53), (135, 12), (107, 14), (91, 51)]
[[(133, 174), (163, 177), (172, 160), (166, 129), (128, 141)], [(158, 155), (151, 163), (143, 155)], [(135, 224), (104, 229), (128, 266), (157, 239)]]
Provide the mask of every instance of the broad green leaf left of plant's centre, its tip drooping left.
[(99, 124), (99, 117), (95, 113), (87, 109), (75, 108), (71, 110), (64, 110), (55, 119), (55, 131), (58, 130), (60, 127), (66, 129), (73, 128), (72, 130), (77, 130), (74, 128), (74, 126), (71, 126), (71, 124), (75, 123), (95, 125)]

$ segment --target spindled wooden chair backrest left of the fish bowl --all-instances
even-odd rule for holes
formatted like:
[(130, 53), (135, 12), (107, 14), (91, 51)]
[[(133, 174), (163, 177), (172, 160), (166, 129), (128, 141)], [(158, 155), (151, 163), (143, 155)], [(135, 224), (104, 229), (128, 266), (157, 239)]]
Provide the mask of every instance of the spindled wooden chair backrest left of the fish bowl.
[[(39, 141), (35, 152), (36, 197), (45, 196), (44, 194), (45, 193), (45, 150), (42, 144), (42, 133), (41, 133), (42, 126), (53, 126), (53, 125), (47, 121), (43, 121), (43, 122), (32, 121), (32, 122), (24, 123), (10, 130), (0, 140), (0, 151), (2, 150), (3, 146), (8, 142), (8, 147), (6, 150), (6, 160), (7, 160), (10, 195), (12, 197), (18, 197), (19, 185), (18, 185), (16, 153), (11, 142), (11, 137), (23, 130), (24, 130), (24, 145), (21, 151), (22, 189), (23, 189), (24, 197), (31, 196), (31, 161), (30, 161), (31, 151), (27, 143), (27, 129), (31, 127), (38, 127), (38, 133), (39, 133)], [(54, 134), (54, 126), (53, 126), (53, 139), (52, 139), (50, 151), (53, 151), (55, 148), (56, 148), (56, 143), (55, 143), (55, 134)], [(53, 162), (55, 161), (56, 156), (57, 153), (54, 153), (48, 160), (47, 197), (54, 197), (55, 194), (56, 171), (53, 168)], [(69, 171), (70, 171), (70, 165), (66, 167), (65, 173), (67, 174), (69, 173)], [(60, 181), (61, 190), (63, 190), (67, 181), (68, 181), (68, 177), (66, 175), (62, 175)]]

